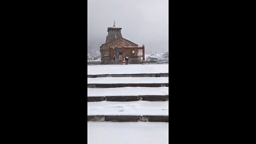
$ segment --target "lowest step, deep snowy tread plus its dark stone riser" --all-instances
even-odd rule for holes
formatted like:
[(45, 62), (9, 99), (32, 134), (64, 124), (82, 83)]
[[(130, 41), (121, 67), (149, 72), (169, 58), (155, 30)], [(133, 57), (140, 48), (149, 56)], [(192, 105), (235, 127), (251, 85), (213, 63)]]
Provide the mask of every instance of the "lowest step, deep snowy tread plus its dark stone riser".
[(87, 121), (169, 122), (168, 101), (87, 102)]

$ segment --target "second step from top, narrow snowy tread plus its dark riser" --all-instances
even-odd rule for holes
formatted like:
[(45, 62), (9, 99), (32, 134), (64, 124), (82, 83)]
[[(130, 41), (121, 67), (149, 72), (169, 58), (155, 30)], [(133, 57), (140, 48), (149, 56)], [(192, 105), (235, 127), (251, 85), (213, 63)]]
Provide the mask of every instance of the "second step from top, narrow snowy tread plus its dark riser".
[(169, 86), (169, 77), (99, 77), (87, 78), (89, 88)]

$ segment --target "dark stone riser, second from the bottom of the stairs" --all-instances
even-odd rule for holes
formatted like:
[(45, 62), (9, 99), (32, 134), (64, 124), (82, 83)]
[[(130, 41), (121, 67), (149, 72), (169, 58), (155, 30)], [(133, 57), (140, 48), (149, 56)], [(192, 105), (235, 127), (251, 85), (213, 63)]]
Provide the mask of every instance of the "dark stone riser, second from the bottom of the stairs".
[(87, 102), (96, 101), (168, 101), (169, 95), (138, 95), (138, 96), (99, 96), (87, 97)]

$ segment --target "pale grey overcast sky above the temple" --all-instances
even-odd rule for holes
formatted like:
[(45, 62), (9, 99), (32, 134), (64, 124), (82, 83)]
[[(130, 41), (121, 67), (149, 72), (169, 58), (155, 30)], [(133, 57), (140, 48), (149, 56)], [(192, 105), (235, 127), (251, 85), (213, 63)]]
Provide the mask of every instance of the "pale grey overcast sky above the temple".
[(100, 49), (112, 27), (121, 27), (122, 36), (147, 54), (168, 51), (168, 0), (88, 0), (88, 48)]

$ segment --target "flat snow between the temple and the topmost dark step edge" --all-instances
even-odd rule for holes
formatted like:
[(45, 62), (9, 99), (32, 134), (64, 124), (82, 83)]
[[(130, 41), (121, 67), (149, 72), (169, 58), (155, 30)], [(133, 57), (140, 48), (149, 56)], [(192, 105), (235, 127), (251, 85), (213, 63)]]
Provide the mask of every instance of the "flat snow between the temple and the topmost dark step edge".
[(87, 75), (169, 73), (169, 64), (87, 66)]

